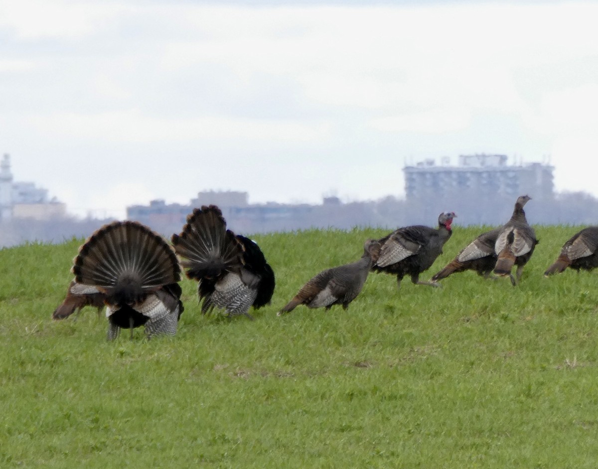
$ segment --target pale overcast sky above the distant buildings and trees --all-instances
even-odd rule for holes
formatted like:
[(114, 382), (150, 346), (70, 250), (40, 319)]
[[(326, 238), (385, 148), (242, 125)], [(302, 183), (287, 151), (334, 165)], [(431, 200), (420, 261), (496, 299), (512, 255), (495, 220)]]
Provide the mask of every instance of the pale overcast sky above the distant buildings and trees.
[[(500, 153), (598, 196), (598, 3), (0, 0), (0, 152), (68, 211), (402, 197)], [(533, 196), (533, 194), (531, 194)]]

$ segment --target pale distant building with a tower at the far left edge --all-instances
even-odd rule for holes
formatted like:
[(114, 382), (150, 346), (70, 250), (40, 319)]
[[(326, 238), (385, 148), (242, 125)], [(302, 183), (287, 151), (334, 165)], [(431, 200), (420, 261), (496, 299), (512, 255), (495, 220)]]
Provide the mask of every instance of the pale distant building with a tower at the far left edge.
[(48, 190), (32, 182), (13, 182), (10, 155), (0, 162), (0, 220), (50, 220), (66, 216), (66, 205), (48, 198)]

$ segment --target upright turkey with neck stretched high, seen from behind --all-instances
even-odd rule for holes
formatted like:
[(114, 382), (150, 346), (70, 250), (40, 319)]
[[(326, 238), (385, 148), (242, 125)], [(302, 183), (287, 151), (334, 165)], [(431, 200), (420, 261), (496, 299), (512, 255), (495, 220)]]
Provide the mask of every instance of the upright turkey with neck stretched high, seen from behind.
[[(529, 200), (532, 200), (529, 195), (521, 195), (517, 198), (511, 219), (502, 226), (494, 247), (495, 253), (498, 255), (494, 273), (500, 277), (508, 275), (513, 286), (517, 285), (520, 280), (523, 266), (532, 257), (536, 244), (538, 244), (536, 233), (527, 223), (523, 211), (523, 207)], [(513, 265), (517, 265), (517, 280), (511, 274)]]

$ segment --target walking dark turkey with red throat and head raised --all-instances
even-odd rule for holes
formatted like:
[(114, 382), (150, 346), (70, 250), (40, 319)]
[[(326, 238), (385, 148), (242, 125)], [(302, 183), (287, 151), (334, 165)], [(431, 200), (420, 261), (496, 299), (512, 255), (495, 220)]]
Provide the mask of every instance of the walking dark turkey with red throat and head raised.
[(444, 243), (449, 240), (453, 230), (451, 223), (456, 217), (454, 212), (441, 213), (438, 217), (438, 229), (429, 226), (405, 226), (385, 236), (379, 243), (380, 256), (372, 269), (396, 275), (397, 286), (405, 275), (417, 285), (440, 287), (435, 281), (420, 281), (419, 274), (429, 269), (436, 258), (443, 252)]

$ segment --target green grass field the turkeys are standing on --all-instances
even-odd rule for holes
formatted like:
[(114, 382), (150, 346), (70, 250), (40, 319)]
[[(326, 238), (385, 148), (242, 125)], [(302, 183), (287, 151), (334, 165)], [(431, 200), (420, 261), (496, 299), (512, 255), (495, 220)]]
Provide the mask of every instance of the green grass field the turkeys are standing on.
[(387, 231), (256, 235), (277, 287), (255, 321), (202, 316), (185, 279), (174, 338), (111, 343), (94, 308), (50, 318), (81, 240), (1, 250), (0, 467), (595, 468), (598, 272), (542, 276), (578, 229), (536, 226), (517, 287), (371, 274), (347, 311), (284, 317)]

